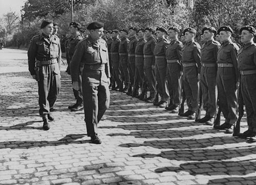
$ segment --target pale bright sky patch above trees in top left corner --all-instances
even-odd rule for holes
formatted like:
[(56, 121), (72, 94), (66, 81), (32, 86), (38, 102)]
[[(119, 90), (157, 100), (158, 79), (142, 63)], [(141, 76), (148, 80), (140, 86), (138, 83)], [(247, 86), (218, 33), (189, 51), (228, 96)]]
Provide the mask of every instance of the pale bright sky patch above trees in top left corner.
[(0, 0), (0, 17), (7, 12), (15, 11), (20, 16), (20, 9), (25, 4), (26, 0)]

